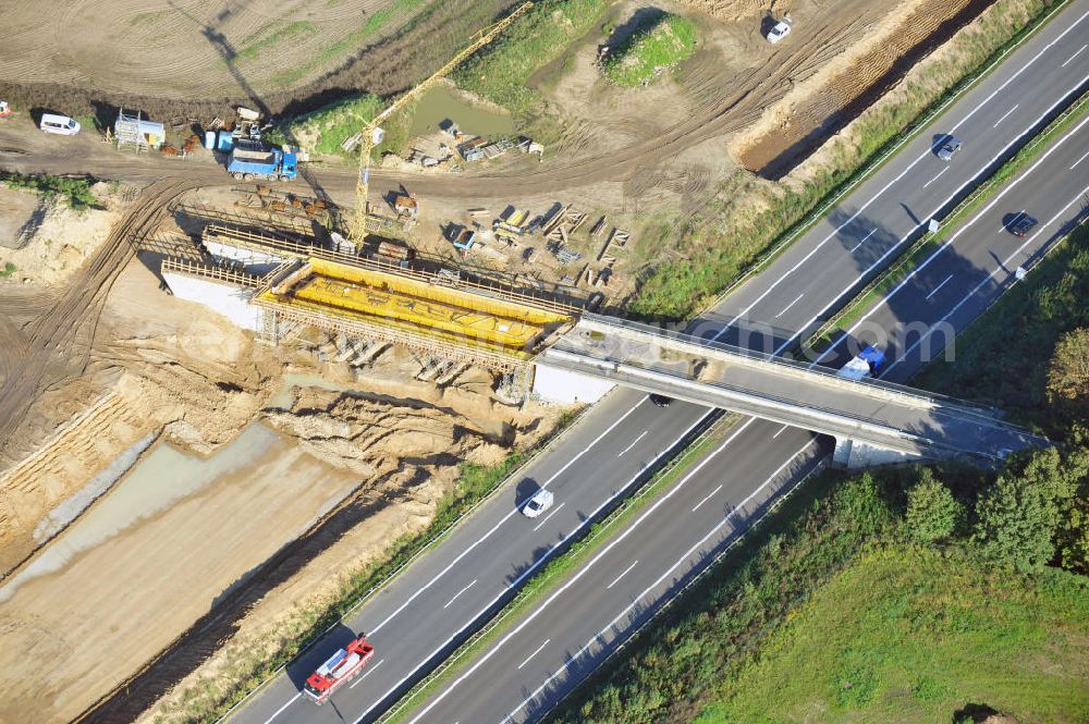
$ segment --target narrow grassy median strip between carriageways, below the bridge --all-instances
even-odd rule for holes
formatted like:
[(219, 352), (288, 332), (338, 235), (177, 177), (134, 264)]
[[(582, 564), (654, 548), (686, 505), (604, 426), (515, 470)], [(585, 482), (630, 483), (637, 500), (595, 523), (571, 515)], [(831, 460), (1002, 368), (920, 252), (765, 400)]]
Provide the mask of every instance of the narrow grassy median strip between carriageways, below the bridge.
[(477, 653), (495, 642), (526, 612), (551, 594), (567, 576), (597, 553), (613, 535), (622, 530), (637, 514), (669, 490), (673, 483), (698, 463), (706, 453), (721, 442), (722, 434), (741, 418), (727, 416), (718, 420), (682, 453), (653, 476), (634, 494), (625, 498), (603, 519), (589, 527), (566, 551), (558, 554), (479, 631), (457, 647), (431, 674), (417, 683), (401, 700), (378, 721), (381, 724), (402, 724), (431, 695), (461, 673)]

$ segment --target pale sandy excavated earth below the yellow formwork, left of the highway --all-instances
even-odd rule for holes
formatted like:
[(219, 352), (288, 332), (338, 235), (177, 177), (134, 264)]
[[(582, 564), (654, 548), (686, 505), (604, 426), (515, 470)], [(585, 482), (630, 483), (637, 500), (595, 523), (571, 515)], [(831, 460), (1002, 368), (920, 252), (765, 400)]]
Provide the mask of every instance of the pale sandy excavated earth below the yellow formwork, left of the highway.
[[(122, 223), (133, 222), (122, 216)], [(108, 250), (107, 241), (96, 256)], [(38, 286), (13, 285), (10, 295), (0, 290), (0, 299), (40, 299), (24, 308), (25, 318), (35, 308), (48, 314), (57, 299), (63, 306), (62, 292), (28, 293)], [(397, 349), (366, 369), (316, 366), (302, 347), (280, 351), (283, 358), (203, 307), (163, 294), (139, 259), (131, 258), (110, 286), (108, 297), (86, 310), (96, 316), (96, 331), (82, 338), (90, 349), (81, 370), (48, 384), (39, 377), (46, 386), (33, 390), (20, 385), (30, 381), (25, 376), (8, 380), (27, 390), (29, 414), (10, 426), (4, 443), (16, 458), (14, 451), (35, 452), (0, 478), (0, 668), (11, 674), (0, 685), (0, 721), (26, 721), (30, 712), (35, 721), (69, 721), (163, 648), (186, 641), (181, 655), (160, 662), (112, 702), (124, 719), (135, 717), (240, 622), (247, 622), (245, 630), (268, 633), (270, 617), (295, 610), (299, 599), (331, 596), (329, 577), (306, 566), (313, 557), (339, 561), (348, 575), (399, 535), (427, 524), (460, 462), (498, 462), (511, 445), (530, 444), (553, 425), (546, 420), (554, 412), (497, 403), (487, 372), (465, 370), (439, 386), (416, 381), (419, 361)], [(17, 342), (34, 324), (13, 328)], [(81, 338), (66, 344), (79, 353)], [(15, 365), (41, 354), (26, 343), (9, 352)], [(304, 386), (271, 405), (285, 364), (348, 389)], [(88, 480), (148, 434), (215, 455), (224, 445), (232, 451), (232, 440), (254, 420), (267, 427), (262, 442), (230, 453), (234, 463), (217, 464), (218, 473), (193, 490), (163, 498), (143, 478), (135, 491), (123, 478), (97, 496), (87, 492)], [(72, 516), (50, 515), (81, 495), (83, 507)], [(135, 503), (125, 503), (133, 496)], [(366, 532), (352, 532), (364, 520)], [(280, 586), (289, 593), (249, 612)], [(86, 594), (73, 597), (73, 590)], [(45, 655), (40, 647), (51, 650), (58, 638), (42, 631), (61, 629), (85, 654), (28, 683), (17, 662)], [(109, 665), (100, 655), (107, 649), (114, 652)], [(121, 714), (108, 708), (95, 716), (120, 721)]]

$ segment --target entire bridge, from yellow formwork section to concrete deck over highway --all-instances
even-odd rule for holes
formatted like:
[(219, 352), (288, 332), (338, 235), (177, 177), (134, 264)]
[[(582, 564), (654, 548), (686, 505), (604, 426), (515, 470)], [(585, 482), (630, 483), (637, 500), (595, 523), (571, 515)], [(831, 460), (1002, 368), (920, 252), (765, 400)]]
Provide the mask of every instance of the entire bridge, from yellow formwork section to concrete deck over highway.
[(166, 260), (168, 284), (273, 344), (315, 327), (512, 373), (522, 394), (535, 368), (598, 378), (833, 435), (837, 457), (852, 465), (1001, 459), (1047, 444), (991, 408), (595, 315), (587, 299), (407, 254), (366, 258), (354, 245), (223, 224), (209, 224), (201, 243), (210, 262)]

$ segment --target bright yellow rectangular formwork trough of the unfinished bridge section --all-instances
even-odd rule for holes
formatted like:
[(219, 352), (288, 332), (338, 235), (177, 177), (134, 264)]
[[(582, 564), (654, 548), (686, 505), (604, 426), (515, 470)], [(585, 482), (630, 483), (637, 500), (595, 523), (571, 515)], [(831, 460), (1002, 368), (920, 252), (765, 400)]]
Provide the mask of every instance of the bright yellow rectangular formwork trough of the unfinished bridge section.
[(573, 321), (554, 311), (313, 257), (260, 299), (519, 358), (542, 335)]

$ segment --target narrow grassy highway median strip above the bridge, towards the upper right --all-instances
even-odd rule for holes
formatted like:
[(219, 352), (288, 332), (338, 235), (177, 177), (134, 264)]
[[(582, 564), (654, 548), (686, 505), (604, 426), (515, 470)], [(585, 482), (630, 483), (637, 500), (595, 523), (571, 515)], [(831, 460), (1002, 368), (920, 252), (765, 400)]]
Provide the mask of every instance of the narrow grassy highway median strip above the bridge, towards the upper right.
[(938, 233), (925, 233), (901, 256), (901, 260), (884, 274), (870, 282), (862, 291), (848, 302), (840, 312), (833, 315), (817, 330), (804, 346), (815, 352), (823, 352), (839, 339), (843, 330), (849, 329), (861, 320), (872, 307), (880, 303), (884, 295), (904, 281), (918, 267), (929, 259), (946, 243), (969, 217), (990, 201), (1002, 186), (1016, 174), (1028, 167), (1059, 136), (1069, 131), (1089, 112), (1089, 94), (1081, 96), (1073, 106), (1061, 113), (1045, 128), (1037, 134), (1031, 142), (1014, 154), (995, 172), (971, 191), (942, 221)]

